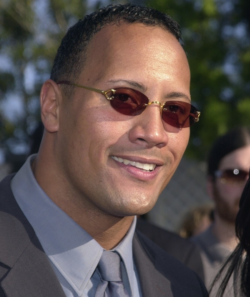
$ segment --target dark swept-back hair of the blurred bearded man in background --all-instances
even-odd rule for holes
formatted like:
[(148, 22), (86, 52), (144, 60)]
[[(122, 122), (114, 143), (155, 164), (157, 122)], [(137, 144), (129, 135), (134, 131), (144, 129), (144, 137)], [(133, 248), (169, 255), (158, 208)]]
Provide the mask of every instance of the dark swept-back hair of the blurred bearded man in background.
[(234, 128), (225, 135), (217, 138), (208, 154), (207, 174), (214, 177), (214, 173), (218, 169), (221, 159), (227, 154), (246, 145), (250, 145), (249, 127)]

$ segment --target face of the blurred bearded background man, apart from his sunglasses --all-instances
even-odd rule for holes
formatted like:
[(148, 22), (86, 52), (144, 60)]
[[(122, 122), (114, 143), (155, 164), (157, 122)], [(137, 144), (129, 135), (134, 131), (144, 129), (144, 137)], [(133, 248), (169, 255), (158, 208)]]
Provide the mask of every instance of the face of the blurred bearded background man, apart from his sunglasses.
[[(250, 145), (236, 149), (221, 159), (219, 170), (242, 169), (249, 172), (250, 167)], [(239, 202), (244, 186), (247, 182), (237, 186), (232, 184), (222, 184), (220, 178), (215, 179), (214, 201), (218, 215), (227, 222), (235, 223), (239, 211)]]

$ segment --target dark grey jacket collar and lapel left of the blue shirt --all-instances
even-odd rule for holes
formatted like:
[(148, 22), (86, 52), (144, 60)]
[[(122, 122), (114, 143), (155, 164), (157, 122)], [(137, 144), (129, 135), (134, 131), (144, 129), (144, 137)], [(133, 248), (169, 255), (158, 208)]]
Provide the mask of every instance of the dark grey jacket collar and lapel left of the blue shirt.
[[(66, 297), (42, 246), (10, 188), (0, 184), (1, 288), (7, 297)], [(1, 294), (1, 290), (0, 290)]]

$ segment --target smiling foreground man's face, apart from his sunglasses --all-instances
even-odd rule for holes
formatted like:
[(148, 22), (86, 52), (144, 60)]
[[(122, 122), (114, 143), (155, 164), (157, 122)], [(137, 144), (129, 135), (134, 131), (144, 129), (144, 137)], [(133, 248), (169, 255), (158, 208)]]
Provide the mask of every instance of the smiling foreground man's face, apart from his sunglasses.
[[(161, 103), (190, 98), (190, 72), (180, 44), (162, 28), (142, 24), (109, 25), (98, 32), (73, 83), (101, 90), (130, 87)], [(137, 116), (123, 115), (102, 94), (83, 88), (75, 88), (72, 102), (63, 99), (59, 116), (56, 158), (69, 195), (115, 216), (153, 207), (189, 138), (189, 128), (163, 122), (158, 104)], [(155, 168), (140, 169), (136, 163)]]

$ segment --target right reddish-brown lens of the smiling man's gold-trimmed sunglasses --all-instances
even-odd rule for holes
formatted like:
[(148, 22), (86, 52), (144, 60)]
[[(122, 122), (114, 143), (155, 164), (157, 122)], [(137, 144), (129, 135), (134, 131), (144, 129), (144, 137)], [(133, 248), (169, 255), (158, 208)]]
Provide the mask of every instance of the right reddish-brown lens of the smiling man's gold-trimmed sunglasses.
[(167, 101), (163, 105), (162, 118), (169, 125), (177, 128), (187, 128), (194, 123), (198, 110), (183, 101)]

